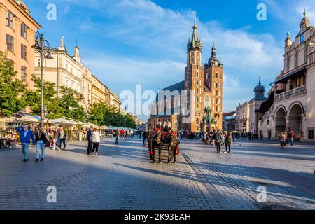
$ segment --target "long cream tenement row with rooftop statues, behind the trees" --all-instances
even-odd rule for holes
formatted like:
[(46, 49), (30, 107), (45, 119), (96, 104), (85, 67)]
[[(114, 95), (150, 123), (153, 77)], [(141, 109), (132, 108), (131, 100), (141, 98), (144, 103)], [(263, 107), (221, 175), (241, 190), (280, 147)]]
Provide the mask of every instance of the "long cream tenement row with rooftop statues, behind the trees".
[[(78, 45), (74, 48), (74, 55), (70, 55), (64, 43), (64, 37), (60, 40), (58, 48), (50, 48), (52, 59), (44, 61), (44, 80), (55, 83), (57, 94), (60, 94), (62, 86), (76, 90), (82, 96), (80, 105), (85, 111), (91, 104), (104, 102), (115, 106), (120, 110), (120, 99), (109, 87), (104, 85), (90, 69), (83, 64)], [(35, 76), (41, 76), (40, 55), (35, 51)]]

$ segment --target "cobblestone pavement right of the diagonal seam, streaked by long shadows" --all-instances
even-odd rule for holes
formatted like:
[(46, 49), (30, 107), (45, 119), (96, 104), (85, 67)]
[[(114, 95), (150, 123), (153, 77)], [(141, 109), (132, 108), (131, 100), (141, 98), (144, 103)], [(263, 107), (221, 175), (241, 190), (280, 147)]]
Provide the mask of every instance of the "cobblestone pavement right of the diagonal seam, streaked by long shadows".
[[(239, 141), (230, 154), (200, 141), (182, 145), (184, 158), (220, 209), (315, 209), (315, 147)], [(224, 147), (225, 151), (225, 147)], [(258, 203), (258, 186), (267, 203)]]

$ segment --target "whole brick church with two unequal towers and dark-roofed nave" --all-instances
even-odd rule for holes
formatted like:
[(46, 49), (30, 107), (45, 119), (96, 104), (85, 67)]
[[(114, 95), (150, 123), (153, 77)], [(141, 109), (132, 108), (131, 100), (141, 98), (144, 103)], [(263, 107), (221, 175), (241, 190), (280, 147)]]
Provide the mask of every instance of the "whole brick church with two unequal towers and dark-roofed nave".
[(209, 62), (202, 66), (202, 41), (197, 23), (187, 45), (184, 80), (159, 92), (148, 123), (169, 122), (178, 130), (193, 132), (222, 129), (223, 64), (212, 47)]

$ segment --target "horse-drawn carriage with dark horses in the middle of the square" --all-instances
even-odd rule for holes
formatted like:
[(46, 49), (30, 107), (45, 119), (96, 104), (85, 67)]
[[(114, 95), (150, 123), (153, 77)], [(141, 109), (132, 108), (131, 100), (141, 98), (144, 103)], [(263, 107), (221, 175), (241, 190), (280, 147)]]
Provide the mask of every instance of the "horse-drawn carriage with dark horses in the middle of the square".
[(179, 138), (176, 132), (169, 131), (165, 128), (163, 131), (160, 128), (156, 128), (148, 136), (148, 148), (150, 152), (150, 159), (155, 163), (155, 153), (158, 150), (159, 163), (162, 162), (162, 151), (167, 151), (168, 158), (167, 163), (171, 162), (174, 158), (176, 162), (176, 155), (179, 155)]

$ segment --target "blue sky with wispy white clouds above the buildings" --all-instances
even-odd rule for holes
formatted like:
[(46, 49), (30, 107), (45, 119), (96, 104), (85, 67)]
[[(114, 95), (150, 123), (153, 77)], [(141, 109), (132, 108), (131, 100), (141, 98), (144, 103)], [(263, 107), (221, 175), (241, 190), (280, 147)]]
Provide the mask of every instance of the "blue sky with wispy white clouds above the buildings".
[[(202, 63), (215, 43), (223, 62), (223, 111), (253, 98), (261, 76), (269, 84), (283, 69), (286, 33), (294, 38), (304, 8), (311, 25), (315, 0), (25, 0), (52, 47), (64, 36), (70, 55), (78, 41), (80, 55), (99, 80), (118, 93), (158, 92), (184, 79), (186, 48), (197, 12)], [(48, 4), (57, 6), (48, 20)], [(258, 20), (264, 3), (267, 20)], [(135, 112), (135, 111), (131, 111)], [(148, 116), (140, 115), (141, 120)]]

